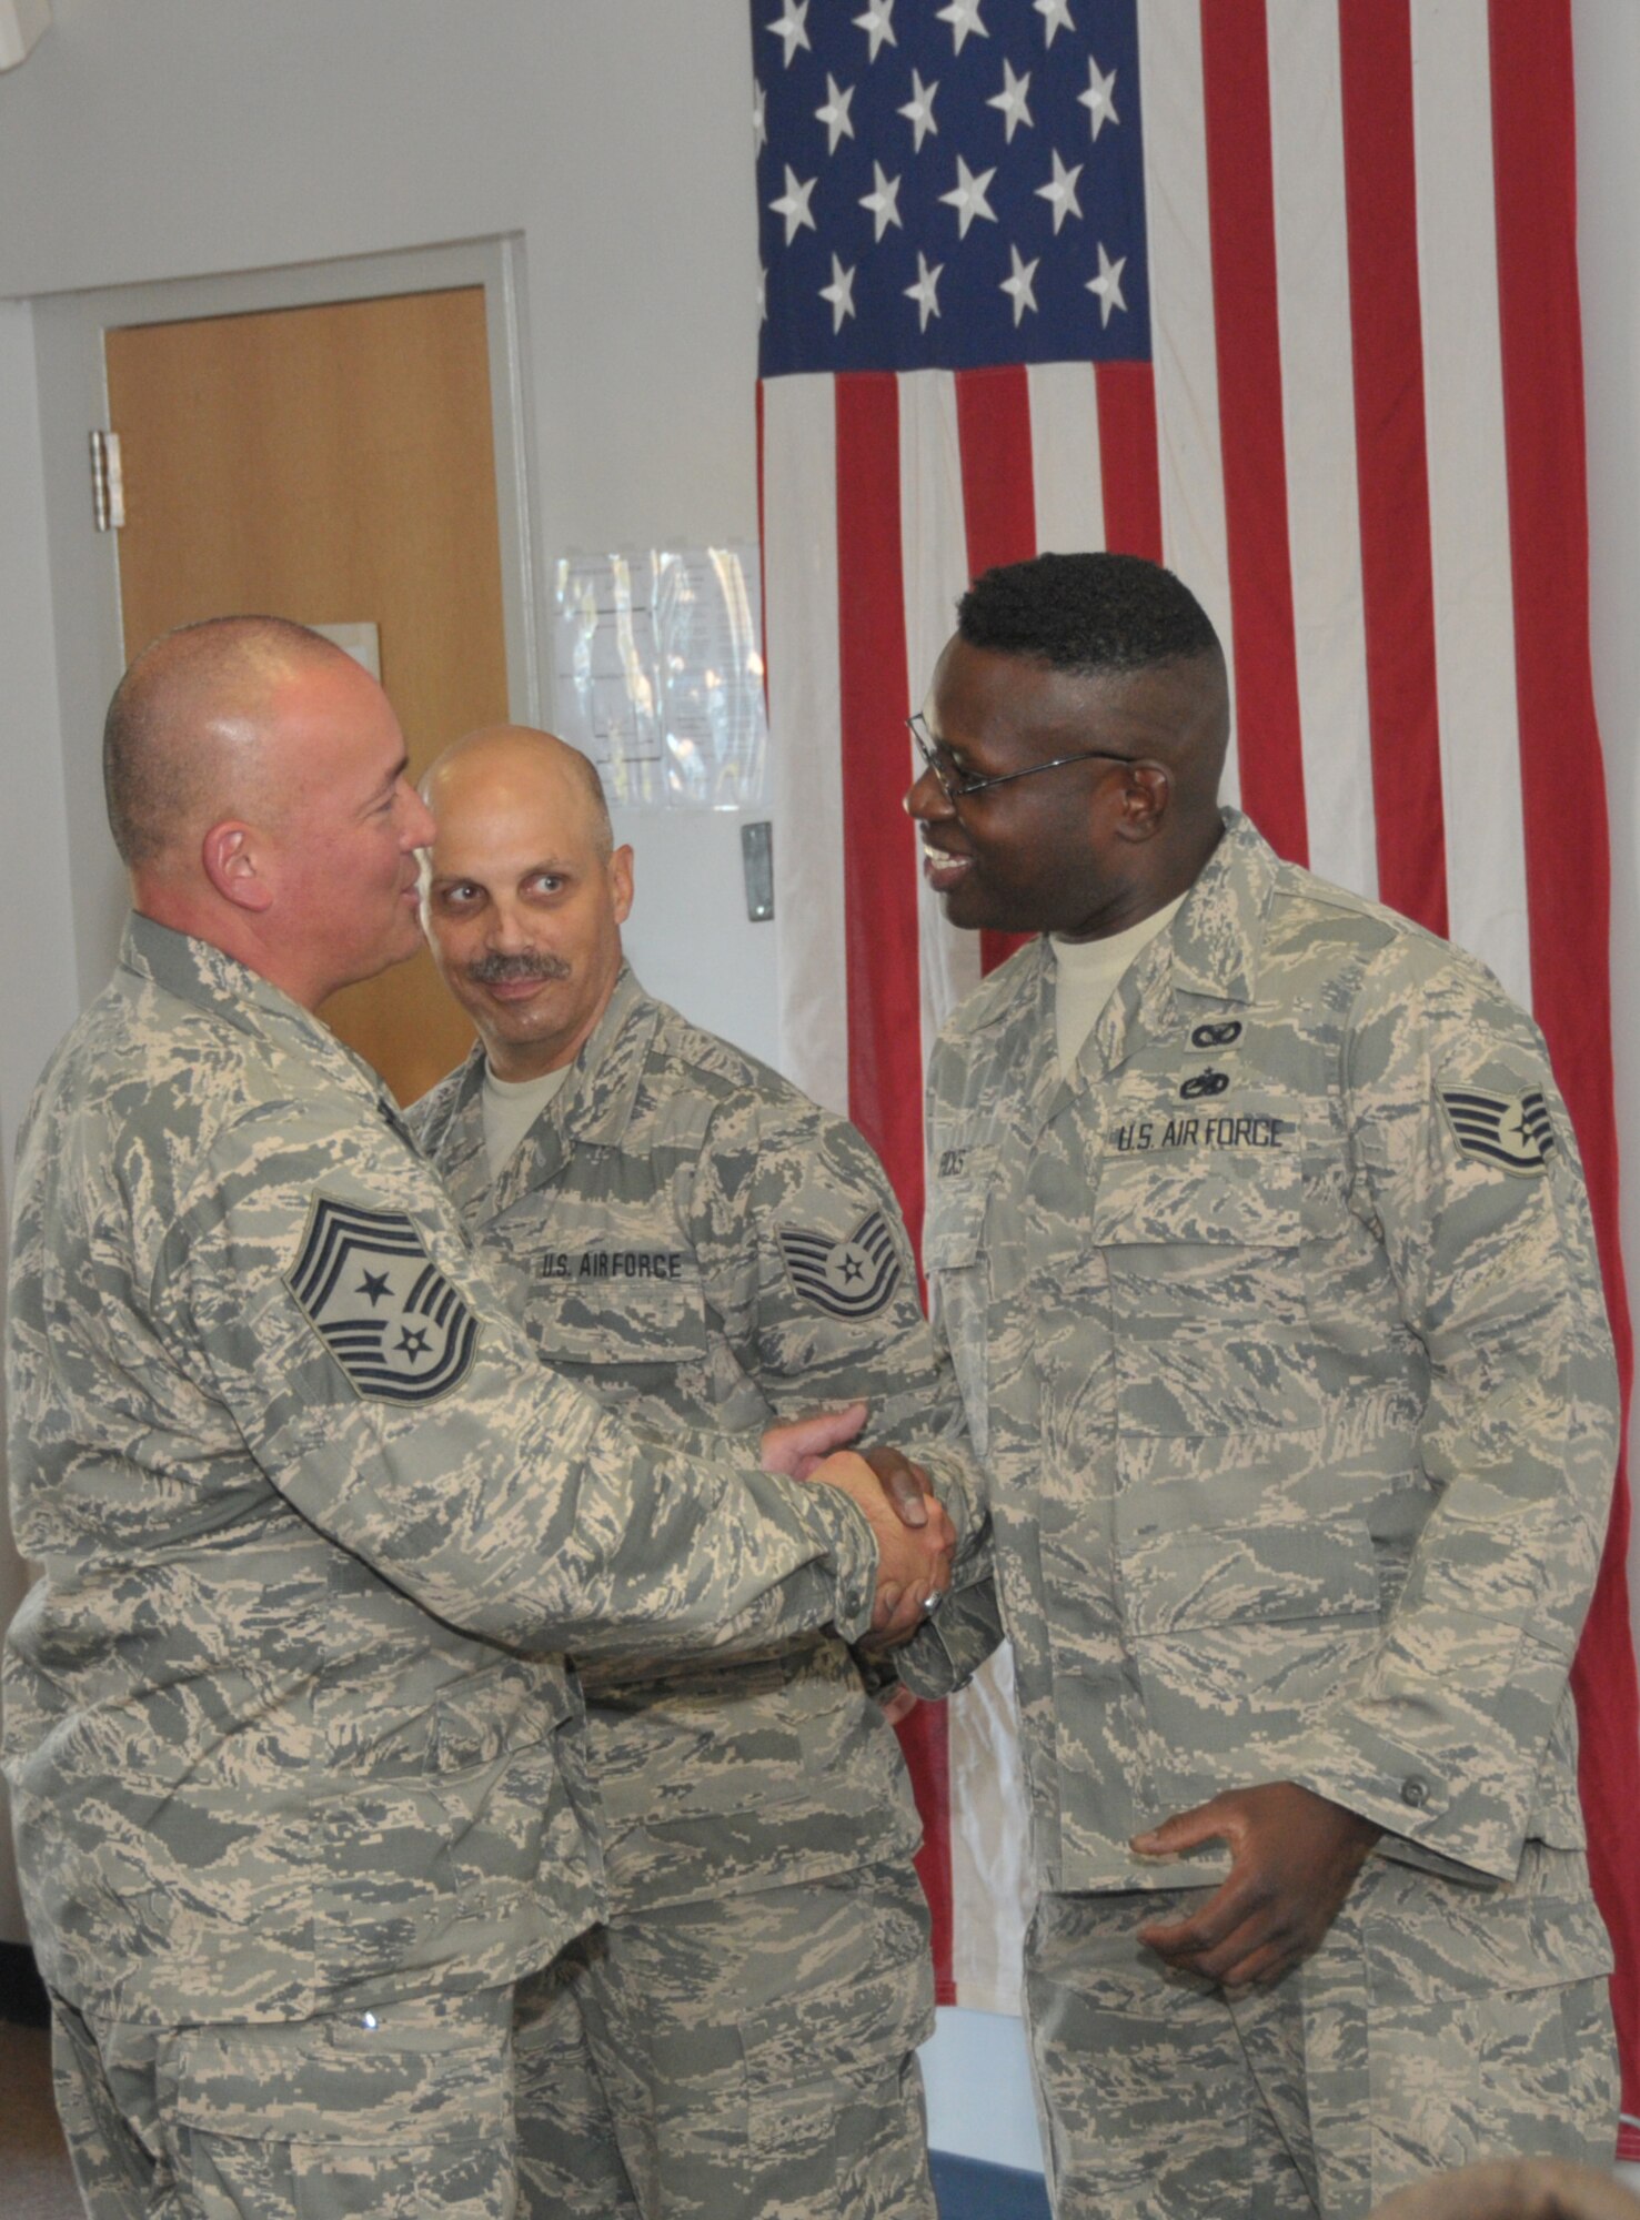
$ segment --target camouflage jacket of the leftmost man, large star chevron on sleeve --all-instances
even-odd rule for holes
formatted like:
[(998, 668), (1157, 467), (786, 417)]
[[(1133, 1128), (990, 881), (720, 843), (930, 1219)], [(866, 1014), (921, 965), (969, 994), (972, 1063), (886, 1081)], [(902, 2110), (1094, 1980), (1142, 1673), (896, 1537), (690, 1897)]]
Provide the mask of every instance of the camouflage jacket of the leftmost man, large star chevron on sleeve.
[(147, 919), (22, 1137), (7, 1396), (44, 1578), (7, 1778), (44, 1978), (162, 2025), (544, 1965), (602, 1914), (540, 1652), (869, 1625), (833, 1490), (547, 1372), (380, 1081)]

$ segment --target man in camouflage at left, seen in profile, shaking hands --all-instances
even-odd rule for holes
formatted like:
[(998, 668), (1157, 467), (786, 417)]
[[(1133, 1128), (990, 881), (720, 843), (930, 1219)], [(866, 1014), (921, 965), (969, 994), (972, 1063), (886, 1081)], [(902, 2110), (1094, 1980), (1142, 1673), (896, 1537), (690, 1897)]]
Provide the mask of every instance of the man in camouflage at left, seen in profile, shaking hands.
[(36, 1097), (7, 1314), (7, 1778), (76, 2173), (93, 2220), (504, 2220), (511, 1985), (604, 1905), (544, 1652), (858, 1634), (876, 1547), (898, 1585), (927, 1547), (856, 1459), (867, 1518), (547, 1372), (311, 1015), (418, 944), (431, 833), (353, 662), (171, 635), (109, 793), (140, 915)]

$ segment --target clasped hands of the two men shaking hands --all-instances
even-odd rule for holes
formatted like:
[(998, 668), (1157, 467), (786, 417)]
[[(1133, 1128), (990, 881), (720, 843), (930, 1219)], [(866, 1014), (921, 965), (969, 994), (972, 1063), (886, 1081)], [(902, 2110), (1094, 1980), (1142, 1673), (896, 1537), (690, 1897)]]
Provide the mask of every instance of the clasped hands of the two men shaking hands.
[(951, 1587), (956, 1527), (929, 1487), (927, 1472), (900, 1450), (856, 1454), (842, 1447), (864, 1421), (864, 1403), (849, 1403), (844, 1410), (764, 1427), (762, 1463), (767, 1472), (784, 1472), (793, 1481), (840, 1487), (864, 1514), (878, 1543), (878, 1601), (871, 1636), (862, 1647), (891, 1649), (911, 1641)]

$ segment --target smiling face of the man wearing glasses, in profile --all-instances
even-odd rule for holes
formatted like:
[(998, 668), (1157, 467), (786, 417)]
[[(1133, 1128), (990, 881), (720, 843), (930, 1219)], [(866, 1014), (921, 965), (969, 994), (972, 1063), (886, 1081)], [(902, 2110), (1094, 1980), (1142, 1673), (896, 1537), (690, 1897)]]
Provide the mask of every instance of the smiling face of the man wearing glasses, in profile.
[(1169, 815), (1187, 768), (1211, 755), (1222, 719), (1216, 657), (1082, 675), (951, 639), (924, 708), (942, 764), (1004, 777), (1087, 748), (1107, 761), (1060, 764), (978, 795), (947, 797), (924, 770), (904, 806), (922, 835), (922, 870), (944, 915), (967, 930), (1098, 939), (1180, 895), (1211, 839), (1200, 810)]

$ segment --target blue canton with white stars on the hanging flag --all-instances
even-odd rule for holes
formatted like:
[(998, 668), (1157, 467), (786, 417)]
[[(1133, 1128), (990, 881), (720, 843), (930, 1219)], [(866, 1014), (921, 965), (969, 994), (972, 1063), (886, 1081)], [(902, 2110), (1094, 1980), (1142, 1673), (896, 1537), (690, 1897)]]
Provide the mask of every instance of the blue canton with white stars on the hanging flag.
[(753, 0), (760, 373), (1144, 362), (1133, 0)]

